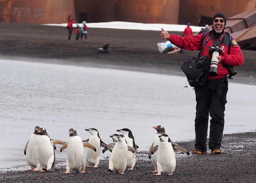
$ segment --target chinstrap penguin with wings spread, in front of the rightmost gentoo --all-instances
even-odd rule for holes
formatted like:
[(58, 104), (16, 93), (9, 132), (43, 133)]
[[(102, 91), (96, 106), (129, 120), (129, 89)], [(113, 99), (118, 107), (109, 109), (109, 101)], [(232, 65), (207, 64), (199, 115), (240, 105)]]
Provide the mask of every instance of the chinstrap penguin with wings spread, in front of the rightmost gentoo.
[(186, 153), (189, 155), (189, 152), (180, 147), (178, 144), (171, 141), (168, 135), (161, 134), (158, 136), (160, 138), (159, 145), (155, 146), (152, 149), (152, 154), (156, 151), (157, 153), (157, 169), (158, 173), (154, 175), (161, 175), (162, 172), (172, 175), (176, 167), (176, 158), (174, 149), (180, 151), (182, 154)]

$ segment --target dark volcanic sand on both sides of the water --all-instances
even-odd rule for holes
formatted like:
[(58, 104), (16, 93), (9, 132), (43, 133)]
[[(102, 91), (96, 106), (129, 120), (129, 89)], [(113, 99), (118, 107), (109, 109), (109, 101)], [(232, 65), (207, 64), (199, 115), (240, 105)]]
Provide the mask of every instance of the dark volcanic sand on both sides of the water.
[[(66, 27), (0, 23), (0, 55), (2, 59), (69, 64), (99, 68), (184, 76), (180, 63), (195, 57), (198, 51), (182, 54), (159, 53), (162, 42), (159, 31), (88, 28), (88, 41), (67, 40)], [(180, 32), (170, 32), (181, 34)], [(110, 44), (110, 54), (98, 54), (104, 43)], [(242, 50), (245, 63), (235, 67), (238, 74), (229, 82), (256, 84), (256, 51)], [(193, 107), (193, 106), (191, 106)], [(159, 125), (159, 124), (156, 124)], [(254, 130), (254, 129), (252, 129)], [(147, 152), (139, 152), (138, 169), (126, 170), (124, 175), (107, 171), (108, 159), (99, 168), (86, 168), (86, 173), (72, 171), (57, 164), (59, 171), (31, 172), (10, 169), (0, 173), (0, 182), (256, 182), (256, 132), (223, 136), (221, 155), (180, 155), (172, 176), (155, 176)], [(190, 153), (194, 141), (179, 142)], [(21, 152), (23, 153), (23, 152)], [(24, 157), (25, 158), (25, 157)]]

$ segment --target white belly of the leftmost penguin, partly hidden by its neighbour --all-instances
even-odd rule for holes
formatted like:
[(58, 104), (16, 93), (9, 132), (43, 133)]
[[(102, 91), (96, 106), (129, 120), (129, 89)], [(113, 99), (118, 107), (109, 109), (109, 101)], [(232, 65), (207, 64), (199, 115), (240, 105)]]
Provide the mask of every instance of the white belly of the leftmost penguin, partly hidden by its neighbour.
[(26, 162), (33, 168), (39, 168), (39, 160), (37, 155), (37, 136), (35, 134), (31, 134), (26, 150)]

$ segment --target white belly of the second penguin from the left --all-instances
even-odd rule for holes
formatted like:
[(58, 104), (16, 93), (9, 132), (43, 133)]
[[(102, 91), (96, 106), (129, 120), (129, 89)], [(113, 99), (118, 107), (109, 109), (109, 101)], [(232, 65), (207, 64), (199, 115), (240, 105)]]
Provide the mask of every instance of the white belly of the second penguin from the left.
[(38, 135), (37, 137), (37, 154), (38, 160), (42, 168), (50, 170), (53, 166), (55, 157), (51, 140), (46, 135)]

